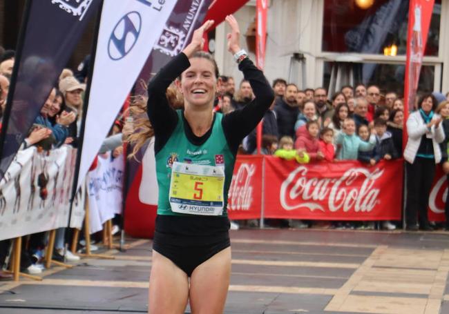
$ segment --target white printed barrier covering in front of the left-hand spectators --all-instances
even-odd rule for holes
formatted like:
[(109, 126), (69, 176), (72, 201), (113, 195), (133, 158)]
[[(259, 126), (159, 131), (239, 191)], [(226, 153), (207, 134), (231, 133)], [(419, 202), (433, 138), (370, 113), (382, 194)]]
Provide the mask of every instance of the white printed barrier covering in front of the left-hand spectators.
[[(0, 240), (67, 226), (76, 155), (70, 146), (17, 153), (0, 181)], [(81, 228), (84, 219), (82, 189), (74, 200), (71, 228)]]

